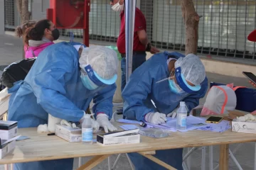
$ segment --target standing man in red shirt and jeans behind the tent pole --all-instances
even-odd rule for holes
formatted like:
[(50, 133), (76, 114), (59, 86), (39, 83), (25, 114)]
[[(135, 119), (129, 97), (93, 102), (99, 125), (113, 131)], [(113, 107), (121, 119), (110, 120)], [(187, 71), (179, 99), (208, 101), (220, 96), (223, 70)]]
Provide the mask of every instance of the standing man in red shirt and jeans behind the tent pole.
[[(122, 55), (122, 85), (123, 91), (126, 84), (126, 55), (125, 55), (125, 15), (124, 15), (124, 0), (110, 0), (110, 5), (114, 11), (120, 12), (121, 26), (119, 37), (117, 38), (117, 49)], [(146, 61), (146, 51), (154, 54), (159, 52), (156, 47), (153, 47), (146, 35), (146, 19), (139, 8), (135, 10), (134, 21), (134, 47), (132, 53), (132, 72)]]

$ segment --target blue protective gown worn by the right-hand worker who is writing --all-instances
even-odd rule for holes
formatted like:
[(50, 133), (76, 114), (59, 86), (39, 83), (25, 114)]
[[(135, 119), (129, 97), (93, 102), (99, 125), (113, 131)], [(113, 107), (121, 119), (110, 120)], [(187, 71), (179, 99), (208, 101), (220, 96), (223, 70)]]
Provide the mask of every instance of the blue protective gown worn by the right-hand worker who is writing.
[[(199, 99), (205, 96), (208, 89), (208, 79), (206, 78), (201, 84), (201, 90), (193, 93), (180, 96), (174, 94), (169, 89), (169, 81), (156, 83), (161, 79), (169, 77), (169, 69), (167, 65), (168, 55), (184, 57), (178, 52), (163, 52), (152, 56), (137, 68), (129, 78), (127, 85), (122, 92), (124, 98), (124, 117), (129, 120), (144, 120), (146, 113), (156, 112), (151, 100), (156, 104), (156, 108), (161, 113), (171, 113), (179, 106), (180, 101), (185, 101), (189, 112), (199, 104)], [(154, 157), (161, 159), (180, 170), (182, 168), (182, 150), (183, 149), (166, 149), (156, 151)], [(149, 169), (164, 169), (151, 160), (143, 157), (140, 154), (129, 154), (135, 168), (137, 170)]]

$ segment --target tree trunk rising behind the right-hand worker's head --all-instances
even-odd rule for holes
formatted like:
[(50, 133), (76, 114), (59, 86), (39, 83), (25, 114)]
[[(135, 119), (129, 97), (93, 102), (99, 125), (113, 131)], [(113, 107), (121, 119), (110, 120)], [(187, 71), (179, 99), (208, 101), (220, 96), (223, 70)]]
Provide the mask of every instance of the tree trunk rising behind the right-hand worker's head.
[(193, 0), (181, 0), (182, 16), (186, 26), (185, 54), (196, 55), (198, 48), (198, 23), (199, 16), (193, 5)]

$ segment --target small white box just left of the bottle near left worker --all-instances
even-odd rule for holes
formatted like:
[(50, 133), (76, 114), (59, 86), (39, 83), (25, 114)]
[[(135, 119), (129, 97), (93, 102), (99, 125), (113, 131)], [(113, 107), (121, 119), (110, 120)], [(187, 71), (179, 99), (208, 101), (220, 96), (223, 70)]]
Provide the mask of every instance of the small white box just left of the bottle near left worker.
[(57, 124), (55, 125), (55, 135), (71, 143), (82, 141), (82, 130), (80, 128), (70, 128)]

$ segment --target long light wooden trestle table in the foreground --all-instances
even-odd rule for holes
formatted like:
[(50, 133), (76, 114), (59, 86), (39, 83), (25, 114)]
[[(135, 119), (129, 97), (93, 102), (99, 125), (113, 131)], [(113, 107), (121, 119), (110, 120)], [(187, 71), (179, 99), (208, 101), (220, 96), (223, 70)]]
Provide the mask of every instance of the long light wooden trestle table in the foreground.
[(31, 139), (16, 142), (14, 152), (0, 159), (0, 164), (14, 164), (20, 162), (35, 162), (52, 159), (66, 159), (75, 157), (93, 157), (78, 169), (92, 169), (111, 154), (138, 152), (152, 161), (173, 169), (171, 166), (152, 156), (156, 150), (175, 149), (183, 147), (202, 147), (220, 145), (220, 169), (228, 169), (229, 144), (256, 142), (253, 134), (231, 132), (210, 132), (193, 130), (189, 132), (172, 132), (169, 137), (154, 139), (141, 136), (141, 143), (132, 145), (100, 146), (82, 145), (81, 142), (70, 143), (57, 136), (38, 134), (36, 128), (18, 129), (18, 133)]

